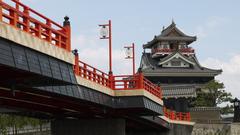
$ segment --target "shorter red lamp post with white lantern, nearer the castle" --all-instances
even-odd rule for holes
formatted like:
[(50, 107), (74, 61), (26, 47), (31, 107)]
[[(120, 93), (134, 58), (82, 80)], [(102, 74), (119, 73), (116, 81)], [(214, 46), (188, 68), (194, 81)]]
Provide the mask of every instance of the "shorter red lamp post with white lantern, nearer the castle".
[(126, 53), (126, 59), (132, 59), (133, 75), (135, 74), (135, 45), (132, 43), (131, 46), (124, 47)]

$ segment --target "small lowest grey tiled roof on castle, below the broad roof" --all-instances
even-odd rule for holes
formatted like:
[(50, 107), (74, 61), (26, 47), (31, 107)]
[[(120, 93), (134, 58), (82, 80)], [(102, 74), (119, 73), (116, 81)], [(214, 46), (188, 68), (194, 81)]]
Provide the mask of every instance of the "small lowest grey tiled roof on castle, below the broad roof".
[(161, 86), (163, 90), (163, 98), (180, 98), (180, 97), (196, 97), (196, 87), (189, 84), (178, 85), (164, 85)]

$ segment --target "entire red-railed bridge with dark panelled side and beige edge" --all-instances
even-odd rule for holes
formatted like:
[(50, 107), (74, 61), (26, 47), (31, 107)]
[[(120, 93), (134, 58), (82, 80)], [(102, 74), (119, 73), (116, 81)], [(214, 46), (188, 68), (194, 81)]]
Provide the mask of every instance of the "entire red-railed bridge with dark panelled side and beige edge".
[(98, 127), (98, 135), (187, 134), (192, 128), (190, 114), (164, 108), (161, 88), (141, 71), (107, 74), (71, 50), (68, 17), (61, 26), (18, 0), (0, 0), (0, 107), (55, 119), (57, 135), (96, 134), (90, 128)]

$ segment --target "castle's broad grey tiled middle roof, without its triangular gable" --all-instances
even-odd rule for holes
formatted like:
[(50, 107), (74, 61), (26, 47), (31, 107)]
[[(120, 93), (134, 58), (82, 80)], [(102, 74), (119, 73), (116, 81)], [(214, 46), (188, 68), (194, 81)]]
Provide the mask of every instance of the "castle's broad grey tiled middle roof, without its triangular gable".
[[(165, 58), (163, 58), (165, 59)], [(141, 59), (141, 68), (145, 76), (166, 76), (167, 74), (184, 74), (186, 75), (201, 75), (204, 74), (205, 76), (216, 76), (222, 72), (222, 70), (214, 70), (209, 69), (206, 67), (202, 67), (199, 62), (197, 61), (196, 56), (192, 56), (188, 58), (190, 61), (196, 63), (192, 65), (191, 68), (184, 68), (184, 67), (160, 67), (158, 66), (159, 59), (153, 59), (150, 53), (143, 53)], [(160, 59), (160, 61), (162, 61)]]

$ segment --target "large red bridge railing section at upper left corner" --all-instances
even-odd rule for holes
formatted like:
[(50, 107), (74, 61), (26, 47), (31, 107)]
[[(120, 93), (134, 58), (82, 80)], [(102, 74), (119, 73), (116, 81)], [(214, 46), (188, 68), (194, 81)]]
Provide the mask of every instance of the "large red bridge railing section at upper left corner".
[(19, 0), (0, 0), (0, 21), (49, 43), (71, 50), (70, 26), (61, 26)]

